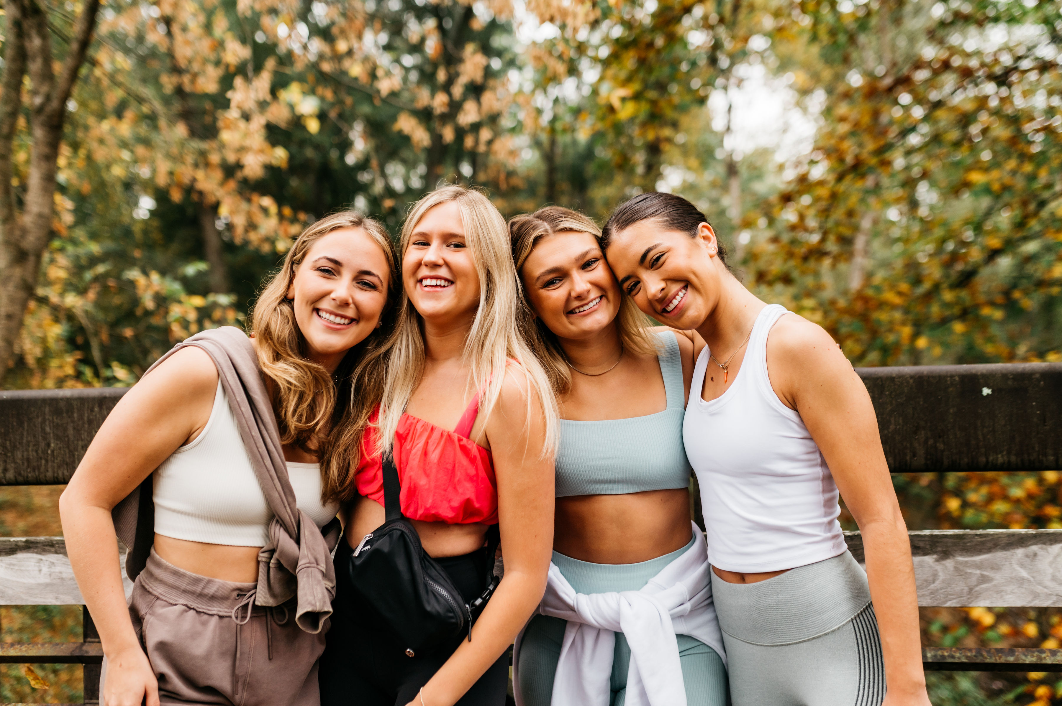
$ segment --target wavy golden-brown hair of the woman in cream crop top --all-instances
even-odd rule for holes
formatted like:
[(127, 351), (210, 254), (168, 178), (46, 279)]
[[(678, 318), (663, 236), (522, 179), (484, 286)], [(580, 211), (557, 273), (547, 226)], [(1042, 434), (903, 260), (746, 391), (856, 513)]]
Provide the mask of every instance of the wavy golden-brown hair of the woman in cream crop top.
[[(360, 228), (383, 251), (389, 269), (388, 299), (380, 314), (383, 325), (347, 351), (329, 375), (323, 365), (306, 357), (306, 339), (295, 321), (288, 290), (313, 243), (342, 228)], [(339, 211), (299, 234), (251, 314), (258, 365), (272, 383), (280, 443), (316, 448), (326, 501), (348, 500), (354, 494), (353, 473), (360, 459), (361, 436), (383, 392), (379, 354), (390, 334), (388, 323), (394, 321), (398, 281), (394, 243), (383, 225), (355, 210)], [(344, 403), (337, 404), (337, 400)]]

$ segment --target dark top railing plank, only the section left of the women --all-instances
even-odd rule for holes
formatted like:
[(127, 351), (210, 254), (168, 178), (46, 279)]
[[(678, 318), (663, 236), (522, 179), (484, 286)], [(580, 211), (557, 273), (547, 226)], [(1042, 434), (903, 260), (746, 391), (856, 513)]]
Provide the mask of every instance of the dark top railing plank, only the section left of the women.
[(0, 485), (70, 480), (124, 388), (0, 391)]

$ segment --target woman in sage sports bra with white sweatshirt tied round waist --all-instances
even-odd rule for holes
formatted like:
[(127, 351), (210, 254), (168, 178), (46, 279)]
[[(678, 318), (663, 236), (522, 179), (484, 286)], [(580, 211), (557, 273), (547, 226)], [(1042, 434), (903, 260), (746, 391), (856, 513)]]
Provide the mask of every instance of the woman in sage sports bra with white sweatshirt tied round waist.
[(517, 703), (724, 706), (682, 446), (692, 343), (621, 300), (585, 216), (543, 208), (510, 235), (562, 416), (552, 565), (517, 641)]

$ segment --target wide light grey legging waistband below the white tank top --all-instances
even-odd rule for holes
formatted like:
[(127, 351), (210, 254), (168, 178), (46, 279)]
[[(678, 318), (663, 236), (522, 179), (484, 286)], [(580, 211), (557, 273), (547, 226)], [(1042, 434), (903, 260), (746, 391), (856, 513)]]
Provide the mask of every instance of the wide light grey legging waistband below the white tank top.
[(719, 626), (752, 644), (788, 644), (837, 630), (870, 603), (867, 572), (845, 551), (767, 581), (732, 584), (712, 575)]

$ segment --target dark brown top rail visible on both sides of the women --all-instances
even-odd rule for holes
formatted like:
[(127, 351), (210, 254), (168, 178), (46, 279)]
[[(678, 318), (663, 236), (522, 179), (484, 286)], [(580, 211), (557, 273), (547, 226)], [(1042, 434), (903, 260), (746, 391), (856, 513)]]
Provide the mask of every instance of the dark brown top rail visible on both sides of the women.
[[(1062, 363), (857, 372), (893, 472), (1062, 468)], [(124, 393), (0, 391), (0, 485), (66, 483)]]

